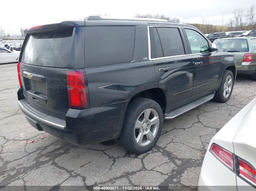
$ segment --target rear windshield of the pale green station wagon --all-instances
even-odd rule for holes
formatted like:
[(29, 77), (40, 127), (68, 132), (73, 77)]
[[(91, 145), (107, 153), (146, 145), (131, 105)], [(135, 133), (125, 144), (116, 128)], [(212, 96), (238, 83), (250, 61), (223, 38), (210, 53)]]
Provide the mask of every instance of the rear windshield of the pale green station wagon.
[(223, 49), (228, 52), (248, 52), (248, 42), (246, 39), (222, 39), (214, 40), (218, 49)]

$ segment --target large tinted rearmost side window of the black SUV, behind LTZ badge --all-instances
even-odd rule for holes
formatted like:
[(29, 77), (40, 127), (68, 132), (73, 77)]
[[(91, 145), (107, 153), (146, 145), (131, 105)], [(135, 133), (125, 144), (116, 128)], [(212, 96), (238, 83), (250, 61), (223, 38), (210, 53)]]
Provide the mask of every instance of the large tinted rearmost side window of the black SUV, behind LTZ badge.
[(131, 62), (134, 26), (85, 27), (85, 67)]

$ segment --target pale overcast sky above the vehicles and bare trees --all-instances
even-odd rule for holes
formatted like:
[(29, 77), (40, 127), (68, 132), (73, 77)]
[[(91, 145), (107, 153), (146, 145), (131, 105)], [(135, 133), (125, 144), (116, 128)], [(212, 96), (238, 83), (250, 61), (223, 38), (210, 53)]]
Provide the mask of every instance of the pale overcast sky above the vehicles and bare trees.
[(225, 24), (233, 10), (250, 8), (254, 4), (255, 0), (1, 0), (0, 27), (18, 33), (20, 27), (105, 13), (115, 18), (131, 18), (137, 13), (165, 14), (188, 23), (201, 23), (201, 18), (205, 17), (212, 24), (222, 25), (223, 13)]

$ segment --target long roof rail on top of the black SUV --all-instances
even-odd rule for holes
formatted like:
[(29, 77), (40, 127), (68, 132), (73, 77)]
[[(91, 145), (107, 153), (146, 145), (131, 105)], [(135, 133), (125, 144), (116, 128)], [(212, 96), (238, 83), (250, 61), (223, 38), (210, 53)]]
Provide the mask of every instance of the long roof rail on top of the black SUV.
[(171, 22), (177, 23), (172, 20), (164, 20), (164, 19), (152, 19), (152, 18), (111, 18), (111, 17), (100, 17), (100, 16), (87, 16), (85, 18), (87, 21), (96, 21), (96, 20), (111, 20), (111, 21), (160, 21), (160, 22)]

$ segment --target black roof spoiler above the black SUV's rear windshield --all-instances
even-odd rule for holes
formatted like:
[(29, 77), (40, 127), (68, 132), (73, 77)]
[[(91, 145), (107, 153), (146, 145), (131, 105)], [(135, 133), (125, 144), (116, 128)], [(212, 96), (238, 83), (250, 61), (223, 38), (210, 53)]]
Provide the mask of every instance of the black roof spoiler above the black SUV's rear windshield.
[(62, 21), (60, 23), (28, 27), (24, 29), (24, 33), (26, 34), (42, 33), (42, 32), (47, 32), (52, 30), (60, 30), (65, 28), (74, 28), (74, 27), (83, 27), (83, 26), (85, 26), (84, 20)]

